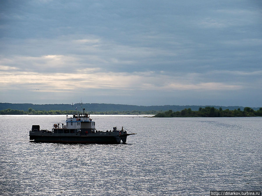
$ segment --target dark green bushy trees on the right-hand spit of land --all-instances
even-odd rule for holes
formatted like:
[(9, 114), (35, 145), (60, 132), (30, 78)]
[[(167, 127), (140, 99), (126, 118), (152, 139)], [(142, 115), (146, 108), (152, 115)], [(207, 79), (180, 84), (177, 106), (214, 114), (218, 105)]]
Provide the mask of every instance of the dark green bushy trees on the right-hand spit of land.
[(215, 109), (214, 107), (199, 107), (198, 111), (192, 111), (190, 108), (183, 109), (182, 111), (173, 112), (168, 110), (166, 112), (161, 112), (156, 114), (154, 117), (165, 118), (165, 117), (247, 117), (247, 116), (262, 116), (262, 107), (255, 111), (250, 107), (245, 107), (244, 111), (240, 108), (235, 110), (225, 109), (222, 110)]

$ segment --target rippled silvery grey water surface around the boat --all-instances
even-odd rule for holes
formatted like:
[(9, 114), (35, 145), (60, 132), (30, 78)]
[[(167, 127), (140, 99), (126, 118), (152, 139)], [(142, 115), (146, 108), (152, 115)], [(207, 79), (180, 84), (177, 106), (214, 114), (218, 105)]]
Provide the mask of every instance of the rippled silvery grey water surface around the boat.
[(34, 143), (32, 124), (65, 116), (0, 116), (0, 195), (209, 195), (261, 190), (261, 117), (93, 115), (98, 130), (126, 127), (126, 144)]

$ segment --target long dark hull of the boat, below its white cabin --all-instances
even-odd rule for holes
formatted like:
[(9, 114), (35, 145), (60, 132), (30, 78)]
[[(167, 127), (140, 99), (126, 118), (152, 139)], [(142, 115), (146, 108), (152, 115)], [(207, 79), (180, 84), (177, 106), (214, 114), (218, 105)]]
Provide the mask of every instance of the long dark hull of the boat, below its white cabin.
[(125, 143), (127, 135), (116, 136), (96, 136), (96, 135), (74, 135), (64, 136), (64, 134), (49, 134), (49, 133), (30, 133), (30, 140), (35, 142), (50, 142), (50, 143), (97, 143), (97, 144), (118, 144)]

